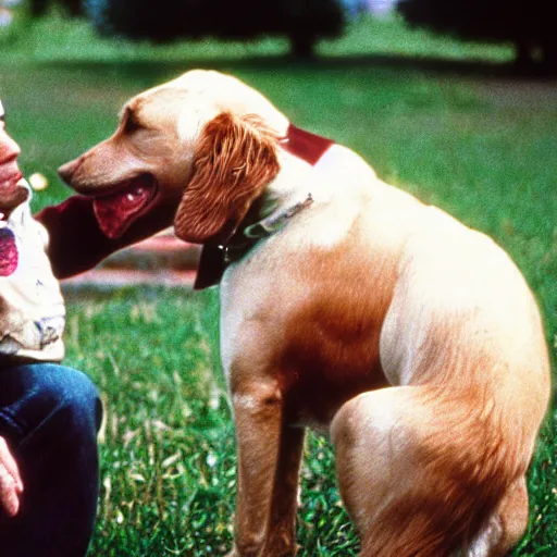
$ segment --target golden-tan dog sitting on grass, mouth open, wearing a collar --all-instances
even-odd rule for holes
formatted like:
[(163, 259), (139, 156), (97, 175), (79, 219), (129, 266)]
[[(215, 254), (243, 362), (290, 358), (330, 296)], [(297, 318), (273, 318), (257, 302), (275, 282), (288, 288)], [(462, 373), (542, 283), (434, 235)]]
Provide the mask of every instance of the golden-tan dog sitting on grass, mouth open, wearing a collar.
[(296, 554), (305, 428), (329, 432), (363, 557), (503, 556), (528, 521), (547, 409), (534, 297), (492, 239), (194, 70), (131, 99), (60, 169), (119, 237), (174, 202), (220, 284), (237, 437), (230, 556)]

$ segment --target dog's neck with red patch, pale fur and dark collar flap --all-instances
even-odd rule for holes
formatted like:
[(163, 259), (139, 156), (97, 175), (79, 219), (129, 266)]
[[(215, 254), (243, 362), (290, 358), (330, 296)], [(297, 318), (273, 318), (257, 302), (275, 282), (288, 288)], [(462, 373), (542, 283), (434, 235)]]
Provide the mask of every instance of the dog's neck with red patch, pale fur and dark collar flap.
[(226, 267), (242, 257), (260, 239), (283, 228), (297, 213), (313, 202), (309, 189), (312, 166), (334, 144), (331, 139), (288, 126), (280, 141), (281, 171), (264, 194), (253, 203), (246, 219), (226, 246), (205, 246), (195, 288), (219, 284)]

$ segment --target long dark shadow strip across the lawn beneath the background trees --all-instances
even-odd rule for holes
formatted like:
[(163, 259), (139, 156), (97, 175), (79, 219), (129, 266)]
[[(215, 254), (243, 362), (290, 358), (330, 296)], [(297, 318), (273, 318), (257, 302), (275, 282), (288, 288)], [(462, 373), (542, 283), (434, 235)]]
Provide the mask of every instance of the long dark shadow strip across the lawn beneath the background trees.
[(240, 58), (200, 58), (184, 61), (54, 61), (41, 62), (41, 66), (52, 69), (78, 69), (95, 73), (122, 73), (126, 77), (141, 75), (143, 78), (157, 81), (169, 73), (180, 74), (193, 67), (212, 70), (256, 70), (262, 72), (326, 72), (366, 69), (387, 69), (418, 71), (430, 74), (461, 75), (478, 78), (505, 78), (516, 81), (557, 81), (557, 69), (553, 72), (542, 66), (522, 67), (512, 62), (488, 62), (482, 60), (453, 60), (435, 57), (407, 57), (403, 54), (364, 54), (348, 57), (319, 57), (299, 60), (290, 55), (255, 55)]

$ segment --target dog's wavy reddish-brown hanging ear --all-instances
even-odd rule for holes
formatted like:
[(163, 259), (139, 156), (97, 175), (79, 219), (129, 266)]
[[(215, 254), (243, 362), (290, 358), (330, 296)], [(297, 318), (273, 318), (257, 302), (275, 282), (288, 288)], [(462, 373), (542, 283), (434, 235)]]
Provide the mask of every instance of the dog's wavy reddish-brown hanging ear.
[(224, 112), (201, 133), (174, 230), (196, 244), (226, 242), (280, 170), (277, 137), (253, 115)]

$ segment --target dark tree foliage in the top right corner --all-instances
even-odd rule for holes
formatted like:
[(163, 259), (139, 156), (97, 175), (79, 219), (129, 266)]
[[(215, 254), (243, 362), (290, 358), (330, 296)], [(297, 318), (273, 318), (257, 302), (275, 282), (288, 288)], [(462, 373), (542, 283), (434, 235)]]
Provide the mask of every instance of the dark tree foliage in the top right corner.
[(412, 26), (467, 40), (510, 41), (520, 65), (557, 69), (553, 0), (401, 0)]

